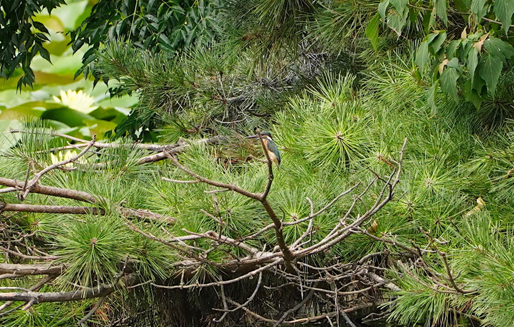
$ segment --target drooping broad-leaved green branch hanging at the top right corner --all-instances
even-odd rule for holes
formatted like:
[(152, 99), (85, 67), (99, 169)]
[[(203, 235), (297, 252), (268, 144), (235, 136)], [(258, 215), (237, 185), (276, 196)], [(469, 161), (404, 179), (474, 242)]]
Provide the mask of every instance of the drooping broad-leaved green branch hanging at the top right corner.
[[(366, 36), (376, 49), (378, 20), (398, 37), (409, 37), (409, 25), (422, 19), (426, 35), (417, 47), (415, 64), (419, 73), (430, 64), (430, 107), (435, 110), (434, 98), (440, 87), (455, 101), (462, 94), (479, 108), (485, 99), (494, 97), (502, 69), (514, 56), (513, 14), (512, 0), (383, 0), (366, 28)], [(421, 83), (421, 75), (417, 78)]]

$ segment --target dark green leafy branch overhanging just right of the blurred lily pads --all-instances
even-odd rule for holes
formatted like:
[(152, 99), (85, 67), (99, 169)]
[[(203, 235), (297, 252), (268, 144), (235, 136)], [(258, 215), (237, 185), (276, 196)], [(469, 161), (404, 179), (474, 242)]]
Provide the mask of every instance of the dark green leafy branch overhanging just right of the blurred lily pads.
[(83, 72), (86, 77), (93, 74), (95, 82), (100, 80), (94, 65), (95, 51), (107, 37), (132, 41), (139, 49), (164, 51), (171, 56), (194, 44), (211, 44), (218, 29), (215, 18), (216, 9), (210, 0), (100, 0), (82, 24), (70, 32), (74, 51), (84, 44), (91, 46), (75, 77)]

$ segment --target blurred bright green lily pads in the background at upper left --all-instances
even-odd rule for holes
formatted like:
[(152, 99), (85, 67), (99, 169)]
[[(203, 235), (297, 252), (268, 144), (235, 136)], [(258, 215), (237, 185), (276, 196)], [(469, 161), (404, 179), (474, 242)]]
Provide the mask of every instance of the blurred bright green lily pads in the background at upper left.
[[(10, 78), (0, 81), (1, 131), (17, 129), (24, 118), (30, 117), (44, 119), (48, 126), (61, 133), (86, 140), (96, 133), (97, 138), (101, 139), (105, 132), (114, 129), (126, 118), (130, 112), (128, 108), (137, 103), (136, 97), (126, 95), (111, 98), (107, 84), (97, 85), (93, 89), (93, 81), (74, 79), (76, 71), (82, 66), (82, 56), (89, 48), (83, 46), (74, 51), (69, 45), (71, 39), (67, 33), (81, 25), (92, 7), (93, 3), (82, 0), (57, 7), (51, 11), (51, 15), (46, 10), (34, 13), (31, 20), (43, 24), (48, 31), (48, 40), (42, 46), (48, 54), (33, 53), (30, 69), (35, 80), (29, 83), (31, 87), (21, 86), (25, 67), (16, 68), (15, 65)], [(61, 103), (52, 98), (60, 99), (60, 92), (68, 90), (82, 90), (93, 97), (90, 107), (96, 109), (86, 110), (88, 106), (84, 107), (84, 104), (88, 102), (87, 99)], [(69, 105), (75, 107), (70, 108)], [(84, 107), (83, 110), (80, 107)], [(10, 142), (4, 143), (2, 149), (12, 145), (16, 139), (17, 136), (12, 135)]]

